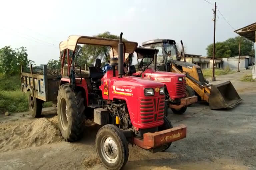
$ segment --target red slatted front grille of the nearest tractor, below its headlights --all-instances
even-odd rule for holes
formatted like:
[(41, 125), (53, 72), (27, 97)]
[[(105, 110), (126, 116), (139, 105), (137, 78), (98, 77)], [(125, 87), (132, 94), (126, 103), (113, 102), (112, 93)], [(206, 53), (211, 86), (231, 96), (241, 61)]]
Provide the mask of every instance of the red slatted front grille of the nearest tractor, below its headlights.
[(164, 118), (165, 97), (154, 97), (151, 99), (140, 99), (140, 123), (150, 124), (162, 121)]

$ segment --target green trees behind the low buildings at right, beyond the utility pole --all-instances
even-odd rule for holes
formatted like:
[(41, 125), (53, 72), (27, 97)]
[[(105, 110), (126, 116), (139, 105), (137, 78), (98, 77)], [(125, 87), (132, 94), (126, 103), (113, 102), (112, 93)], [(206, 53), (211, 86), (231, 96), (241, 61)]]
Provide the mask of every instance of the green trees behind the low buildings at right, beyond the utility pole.
[[(207, 55), (213, 56), (213, 44), (210, 44), (206, 48)], [(233, 57), (238, 56), (239, 51), (239, 36), (235, 38), (229, 38), (224, 42), (217, 42), (215, 44), (215, 56), (218, 57)], [(241, 37), (240, 55), (252, 55), (253, 42)]]

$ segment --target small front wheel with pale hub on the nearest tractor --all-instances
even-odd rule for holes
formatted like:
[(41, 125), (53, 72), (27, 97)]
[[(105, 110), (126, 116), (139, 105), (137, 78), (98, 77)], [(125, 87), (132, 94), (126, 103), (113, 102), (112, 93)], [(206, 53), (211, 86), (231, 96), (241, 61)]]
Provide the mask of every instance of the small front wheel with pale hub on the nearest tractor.
[(127, 162), (129, 148), (124, 133), (114, 125), (105, 125), (96, 135), (96, 151), (107, 169), (121, 169)]

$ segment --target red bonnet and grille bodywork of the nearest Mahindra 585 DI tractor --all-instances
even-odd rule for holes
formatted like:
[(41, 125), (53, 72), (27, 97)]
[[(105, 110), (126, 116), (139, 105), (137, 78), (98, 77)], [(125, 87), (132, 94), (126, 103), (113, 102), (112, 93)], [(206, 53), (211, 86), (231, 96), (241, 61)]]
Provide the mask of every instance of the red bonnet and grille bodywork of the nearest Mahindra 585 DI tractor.
[[(153, 128), (163, 124), (165, 95), (160, 95), (159, 90), (155, 90), (164, 87), (163, 83), (140, 77), (112, 76), (113, 71), (110, 70), (101, 79), (103, 99), (125, 100), (132, 125), (137, 129)], [(145, 88), (153, 88), (154, 95), (145, 96)]]

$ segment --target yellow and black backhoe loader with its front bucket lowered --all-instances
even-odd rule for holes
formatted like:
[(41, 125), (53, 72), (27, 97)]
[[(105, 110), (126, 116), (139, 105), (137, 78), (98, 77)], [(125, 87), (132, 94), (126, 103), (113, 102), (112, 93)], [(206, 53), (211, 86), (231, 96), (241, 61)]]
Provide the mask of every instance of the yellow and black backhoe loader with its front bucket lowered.
[(158, 71), (171, 71), (186, 74), (186, 97), (198, 95), (201, 100), (209, 103), (210, 109), (231, 109), (242, 102), (230, 81), (218, 85), (210, 84), (204, 79), (200, 66), (186, 62), (182, 44), (182, 55), (178, 56), (176, 42), (169, 39), (156, 39), (142, 43), (143, 47), (156, 48)]

